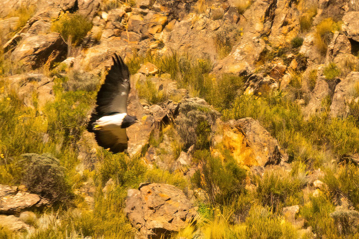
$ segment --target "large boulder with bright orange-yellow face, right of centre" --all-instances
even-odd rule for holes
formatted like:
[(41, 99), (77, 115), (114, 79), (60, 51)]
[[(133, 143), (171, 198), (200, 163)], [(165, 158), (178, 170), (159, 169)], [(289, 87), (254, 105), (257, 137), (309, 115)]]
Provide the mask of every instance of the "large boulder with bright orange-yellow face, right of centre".
[(279, 164), (285, 159), (277, 140), (252, 118), (228, 123), (217, 121), (212, 145), (229, 150), (238, 164), (246, 166)]

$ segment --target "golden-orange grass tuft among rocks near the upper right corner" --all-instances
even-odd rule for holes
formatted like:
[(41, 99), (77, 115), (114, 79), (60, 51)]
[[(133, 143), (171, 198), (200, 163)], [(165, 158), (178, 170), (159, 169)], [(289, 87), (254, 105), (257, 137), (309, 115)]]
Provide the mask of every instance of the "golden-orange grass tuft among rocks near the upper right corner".
[(322, 55), (326, 54), (334, 31), (340, 30), (341, 23), (336, 23), (331, 18), (326, 18), (317, 25), (316, 34), (314, 35), (314, 44)]

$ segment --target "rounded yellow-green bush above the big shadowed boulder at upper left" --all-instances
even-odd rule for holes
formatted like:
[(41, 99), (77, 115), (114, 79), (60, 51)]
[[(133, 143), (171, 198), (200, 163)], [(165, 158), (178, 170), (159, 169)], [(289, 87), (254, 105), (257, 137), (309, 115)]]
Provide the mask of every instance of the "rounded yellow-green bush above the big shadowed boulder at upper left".
[(91, 21), (78, 13), (66, 13), (51, 25), (52, 31), (60, 33), (65, 40), (71, 38), (71, 43), (76, 44), (80, 43), (91, 28)]

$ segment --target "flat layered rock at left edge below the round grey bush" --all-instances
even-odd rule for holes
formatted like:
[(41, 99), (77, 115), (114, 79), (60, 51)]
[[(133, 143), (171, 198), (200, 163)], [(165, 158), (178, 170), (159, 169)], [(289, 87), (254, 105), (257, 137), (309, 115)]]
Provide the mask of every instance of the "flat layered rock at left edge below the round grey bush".
[(21, 191), (16, 186), (0, 184), (0, 213), (19, 212), (36, 206), (40, 200), (37, 194)]

